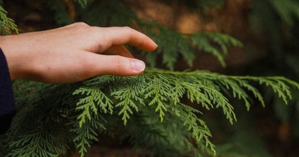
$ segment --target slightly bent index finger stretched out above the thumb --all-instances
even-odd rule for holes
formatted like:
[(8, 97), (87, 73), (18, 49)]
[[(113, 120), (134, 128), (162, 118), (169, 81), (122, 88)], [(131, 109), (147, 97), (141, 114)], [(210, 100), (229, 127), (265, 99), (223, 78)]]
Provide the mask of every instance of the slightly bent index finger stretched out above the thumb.
[(153, 51), (157, 47), (157, 44), (147, 35), (130, 27), (106, 27), (101, 29), (104, 29), (101, 33), (106, 34), (109, 47), (112, 45), (130, 44), (145, 51)]

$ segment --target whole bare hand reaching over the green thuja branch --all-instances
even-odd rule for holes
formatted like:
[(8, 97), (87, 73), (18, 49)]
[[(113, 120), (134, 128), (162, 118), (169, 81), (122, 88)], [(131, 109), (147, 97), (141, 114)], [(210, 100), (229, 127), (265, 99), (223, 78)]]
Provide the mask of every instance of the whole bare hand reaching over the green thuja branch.
[(146, 51), (157, 45), (129, 27), (95, 27), (78, 22), (46, 31), (0, 36), (11, 79), (68, 83), (110, 74), (143, 73), (145, 63), (123, 46)]

